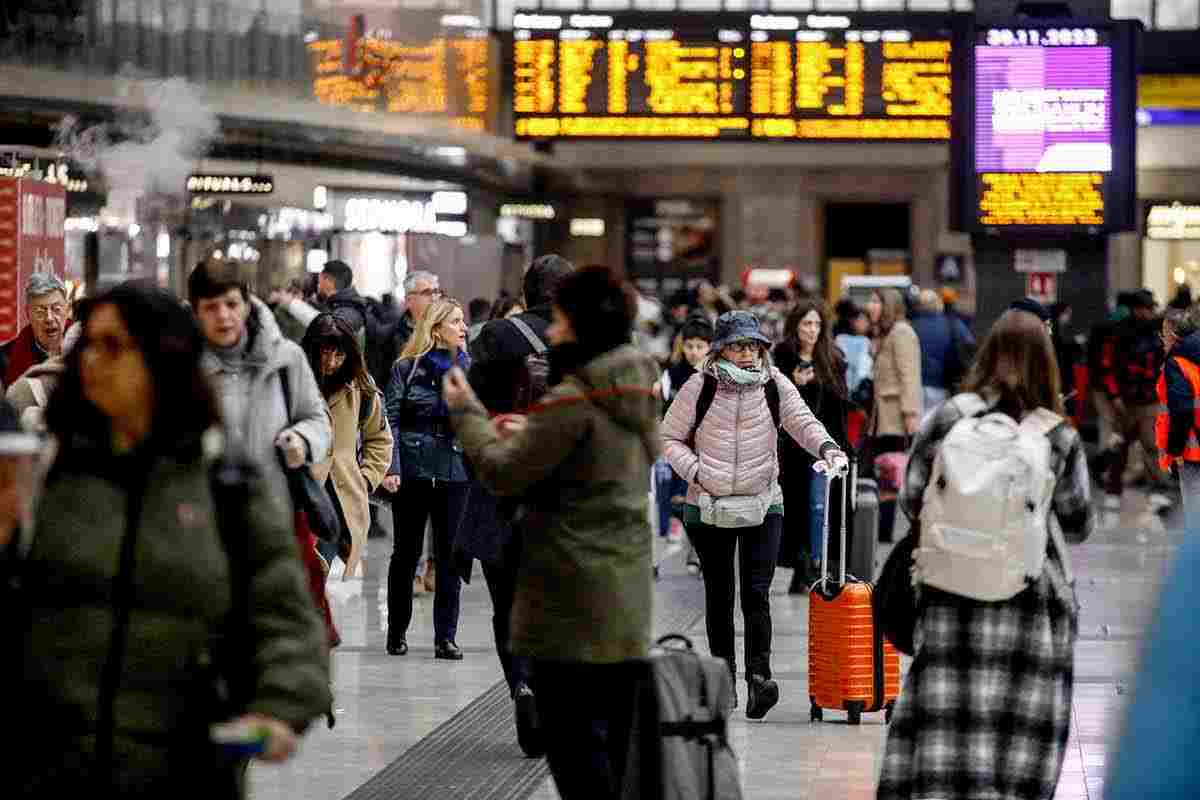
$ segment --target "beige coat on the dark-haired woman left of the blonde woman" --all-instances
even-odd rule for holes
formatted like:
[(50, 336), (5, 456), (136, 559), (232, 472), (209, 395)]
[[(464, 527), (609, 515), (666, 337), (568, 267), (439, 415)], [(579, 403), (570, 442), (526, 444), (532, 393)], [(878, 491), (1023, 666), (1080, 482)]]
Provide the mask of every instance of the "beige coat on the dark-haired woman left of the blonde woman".
[(346, 565), (347, 578), (358, 573), (362, 548), (366, 547), (371, 529), (371, 493), (383, 483), (391, 465), (391, 429), (384, 413), (383, 395), (378, 391), (371, 414), (362, 423), (362, 464), (359, 465), (359, 409), (362, 397), (362, 390), (350, 384), (329, 399), (329, 414), (334, 420), (332, 453), (312, 467), (313, 477), (320, 483), (332, 480), (337, 501), (346, 515), (352, 542)]

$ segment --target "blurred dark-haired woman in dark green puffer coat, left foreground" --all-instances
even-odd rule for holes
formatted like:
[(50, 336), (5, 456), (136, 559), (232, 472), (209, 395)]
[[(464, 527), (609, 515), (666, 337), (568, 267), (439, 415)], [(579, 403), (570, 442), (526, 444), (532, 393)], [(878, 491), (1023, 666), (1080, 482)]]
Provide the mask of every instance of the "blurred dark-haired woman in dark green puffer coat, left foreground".
[(210, 726), (236, 717), (283, 762), (329, 703), (288, 513), (251, 463), (218, 464), (182, 306), (126, 284), (80, 324), (36, 522), (5, 560), (23, 675), (10, 793), (238, 798), (240, 758)]

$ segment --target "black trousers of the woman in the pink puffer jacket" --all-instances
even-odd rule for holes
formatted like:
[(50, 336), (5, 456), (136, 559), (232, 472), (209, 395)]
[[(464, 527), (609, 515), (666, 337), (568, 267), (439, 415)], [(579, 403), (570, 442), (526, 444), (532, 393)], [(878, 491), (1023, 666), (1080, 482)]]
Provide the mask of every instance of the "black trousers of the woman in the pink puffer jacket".
[(733, 557), (742, 577), (746, 675), (770, 678), (770, 581), (784, 531), (782, 515), (768, 515), (755, 528), (688, 525), (688, 536), (704, 571), (704, 625), (708, 649), (737, 676), (733, 644)]

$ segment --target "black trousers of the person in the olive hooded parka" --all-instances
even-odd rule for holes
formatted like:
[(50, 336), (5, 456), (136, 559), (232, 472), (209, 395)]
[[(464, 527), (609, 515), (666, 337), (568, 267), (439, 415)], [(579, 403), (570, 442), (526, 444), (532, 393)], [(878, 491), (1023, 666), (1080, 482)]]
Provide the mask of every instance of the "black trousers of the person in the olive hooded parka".
[(620, 795), (634, 715), (628, 664), (534, 662), (546, 760), (563, 800)]

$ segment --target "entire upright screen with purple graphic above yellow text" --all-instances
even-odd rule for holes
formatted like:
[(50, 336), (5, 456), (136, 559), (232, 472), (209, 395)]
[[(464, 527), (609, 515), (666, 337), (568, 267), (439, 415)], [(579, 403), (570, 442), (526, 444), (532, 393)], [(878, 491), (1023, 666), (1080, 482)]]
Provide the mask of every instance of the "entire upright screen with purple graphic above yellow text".
[(1127, 41), (1109, 26), (976, 31), (959, 150), (970, 228), (1128, 224), (1134, 83), (1115, 68)]

